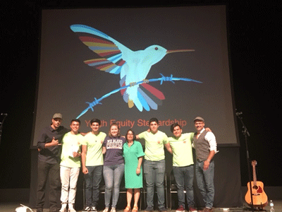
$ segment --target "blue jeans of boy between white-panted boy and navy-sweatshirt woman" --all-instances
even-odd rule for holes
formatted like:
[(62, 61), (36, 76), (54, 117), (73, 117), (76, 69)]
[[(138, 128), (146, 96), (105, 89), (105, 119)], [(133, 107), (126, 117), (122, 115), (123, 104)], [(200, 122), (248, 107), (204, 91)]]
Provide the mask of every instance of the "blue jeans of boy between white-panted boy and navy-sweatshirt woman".
[(96, 207), (99, 201), (99, 184), (102, 179), (103, 165), (87, 166), (85, 179), (85, 206)]

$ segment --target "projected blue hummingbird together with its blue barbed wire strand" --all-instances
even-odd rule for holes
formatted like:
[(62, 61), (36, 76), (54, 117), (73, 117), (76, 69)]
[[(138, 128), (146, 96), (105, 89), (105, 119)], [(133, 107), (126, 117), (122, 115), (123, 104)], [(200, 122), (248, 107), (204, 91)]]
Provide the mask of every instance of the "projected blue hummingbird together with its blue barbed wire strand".
[(147, 79), (147, 75), (154, 64), (157, 64), (167, 54), (174, 52), (193, 52), (195, 49), (175, 49), (168, 50), (159, 45), (151, 45), (144, 50), (133, 51), (125, 47), (120, 42), (109, 35), (87, 25), (71, 25), (71, 30), (79, 34), (79, 39), (99, 58), (85, 60), (84, 63), (94, 69), (107, 73), (120, 74), (120, 88), (107, 93), (102, 98), (94, 98), (93, 102), (87, 102), (89, 107), (80, 113), (81, 117), (87, 110), (92, 110), (95, 105), (101, 104), (101, 100), (109, 97), (113, 93), (121, 92), (123, 100), (129, 108), (137, 107), (142, 112), (143, 108), (147, 111), (157, 110), (158, 105), (165, 99), (164, 94), (149, 85), (153, 81), (192, 81), (201, 83), (190, 78), (176, 78), (163, 76), (160, 78)]

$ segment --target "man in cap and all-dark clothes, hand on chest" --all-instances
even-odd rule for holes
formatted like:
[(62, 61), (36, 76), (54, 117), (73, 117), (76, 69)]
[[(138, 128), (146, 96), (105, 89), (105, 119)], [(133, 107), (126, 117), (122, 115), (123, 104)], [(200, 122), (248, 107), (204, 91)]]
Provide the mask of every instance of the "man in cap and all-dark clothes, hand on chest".
[(43, 211), (45, 187), (49, 175), (50, 211), (58, 211), (60, 197), (60, 154), (61, 139), (69, 129), (61, 126), (62, 114), (56, 113), (49, 126), (42, 130), (37, 142), (38, 148), (38, 178), (37, 178), (37, 212)]

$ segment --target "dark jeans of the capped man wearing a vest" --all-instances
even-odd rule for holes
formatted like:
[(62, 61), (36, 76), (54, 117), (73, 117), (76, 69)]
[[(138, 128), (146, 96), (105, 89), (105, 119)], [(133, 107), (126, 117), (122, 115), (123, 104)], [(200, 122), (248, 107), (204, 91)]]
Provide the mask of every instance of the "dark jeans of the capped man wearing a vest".
[(214, 160), (209, 163), (209, 169), (204, 170), (204, 161), (196, 162), (197, 186), (202, 194), (204, 204), (212, 208), (214, 204)]

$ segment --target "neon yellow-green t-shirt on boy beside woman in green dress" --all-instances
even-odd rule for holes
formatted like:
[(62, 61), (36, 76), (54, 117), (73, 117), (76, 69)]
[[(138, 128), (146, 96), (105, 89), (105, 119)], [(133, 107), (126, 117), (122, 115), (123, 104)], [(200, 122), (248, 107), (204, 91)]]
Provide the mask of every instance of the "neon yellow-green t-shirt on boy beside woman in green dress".
[(143, 131), (139, 134), (140, 139), (145, 139), (145, 159), (151, 161), (164, 160), (164, 144), (168, 143), (168, 137), (162, 131)]

